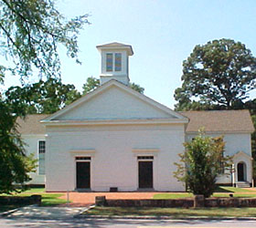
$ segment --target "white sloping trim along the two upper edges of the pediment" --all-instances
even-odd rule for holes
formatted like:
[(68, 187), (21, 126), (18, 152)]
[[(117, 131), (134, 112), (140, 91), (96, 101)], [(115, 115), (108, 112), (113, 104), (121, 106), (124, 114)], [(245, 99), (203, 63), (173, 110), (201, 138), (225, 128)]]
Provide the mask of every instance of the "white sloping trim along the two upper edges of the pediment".
[[(123, 83), (112, 79), (112, 80), (104, 83), (103, 85), (101, 85), (101, 87), (96, 88), (91, 93), (86, 94), (85, 96), (77, 99), (76, 101), (71, 103), (66, 108), (59, 110), (58, 112), (52, 114), (51, 116), (49, 116), (46, 119), (43, 119), (41, 122), (50, 122), (52, 120), (56, 120), (60, 116), (69, 112), (71, 109), (76, 109), (76, 108), (80, 107), (80, 105), (82, 105), (83, 103), (91, 100), (91, 98), (95, 98), (97, 95), (100, 95), (101, 93), (103, 93), (104, 91), (106, 91), (107, 89), (112, 88), (112, 87), (120, 88), (121, 90), (130, 94), (134, 98), (137, 98), (138, 100), (142, 100), (144, 103), (154, 107), (155, 109), (158, 109), (158, 110), (161, 110), (162, 112), (165, 112), (168, 116), (170, 116), (169, 119), (179, 119), (179, 120), (181, 120), (185, 123), (187, 123), (187, 121), (188, 121), (188, 119), (186, 117), (182, 116), (181, 114), (177, 113), (176, 111), (174, 111), (172, 109), (168, 109), (167, 107), (165, 107), (164, 105), (156, 102), (155, 100), (146, 97), (144, 94), (140, 94), (139, 92), (133, 90), (132, 88), (129, 88), (129, 87), (123, 85)], [(82, 119), (80, 119), (80, 120), (82, 120)]]

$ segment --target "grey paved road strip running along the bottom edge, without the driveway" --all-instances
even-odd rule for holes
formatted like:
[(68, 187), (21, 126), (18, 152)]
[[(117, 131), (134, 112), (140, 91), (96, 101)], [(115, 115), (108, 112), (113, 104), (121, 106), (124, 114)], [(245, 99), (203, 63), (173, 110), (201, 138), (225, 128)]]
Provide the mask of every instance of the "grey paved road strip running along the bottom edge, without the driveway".
[(2, 228), (70, 228), (70, 227), (91, 227), (91, 228), (173, 228), (173, 227), (229, 227), (244, 228), (256, 227), (255, 221), (143, 221), (143, 220), (105, 220), (105, 219), (27, 219), (27, 218), (4, 218), (0, 219), (0, 227)]

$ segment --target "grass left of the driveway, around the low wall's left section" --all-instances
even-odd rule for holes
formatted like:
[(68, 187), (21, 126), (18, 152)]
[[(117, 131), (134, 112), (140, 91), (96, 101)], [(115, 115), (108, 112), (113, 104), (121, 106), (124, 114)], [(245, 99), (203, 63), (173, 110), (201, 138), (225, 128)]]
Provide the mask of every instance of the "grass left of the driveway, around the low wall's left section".
[[(20, 193), (13, 193), (13, 196), (30, 196), (33, 194), (38, 194), (42, 196), (42, 203), (41, 206), (56, 206), (62, 203), (66, 203), (66, 200), (63, 199), (59, 199), (60, 196), (62, 196), (63, 194), (59, 194), (59, 193), (47, 193), (45, 192), (44, 188), (31, 188), (25, 192), (20, 192)], [(0, 196), (10, 196), (7, 194), (0, 194)], [(21, 206), (25, 206), (24, 204), (16, 204), (16, 205), (6, 205), (0, 206), (0, 212), (5, 212), (17, 207), (21, 207)]]

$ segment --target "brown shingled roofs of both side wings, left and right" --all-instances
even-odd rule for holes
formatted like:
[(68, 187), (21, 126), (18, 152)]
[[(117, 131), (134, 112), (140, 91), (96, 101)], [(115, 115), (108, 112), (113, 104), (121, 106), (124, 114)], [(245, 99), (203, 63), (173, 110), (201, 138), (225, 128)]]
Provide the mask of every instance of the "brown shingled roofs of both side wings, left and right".
[[(189, 119), (186, 132), (197, 132), (204, 127), (207, 132), (253, 132), (249, 110), (182, 111), (180, 114)], [(17, 119), (21, 134), (45, 134), (39, 121), (47, 118), (45, 114), (28, 115)]]

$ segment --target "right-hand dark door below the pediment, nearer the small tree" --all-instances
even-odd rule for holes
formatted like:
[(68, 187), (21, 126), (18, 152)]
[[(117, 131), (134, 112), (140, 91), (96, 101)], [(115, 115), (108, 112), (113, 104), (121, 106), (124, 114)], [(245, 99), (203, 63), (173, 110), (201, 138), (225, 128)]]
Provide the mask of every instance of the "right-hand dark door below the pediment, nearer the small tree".
[(153, 188), (153, 161), (139, 161), (139, 188)]

